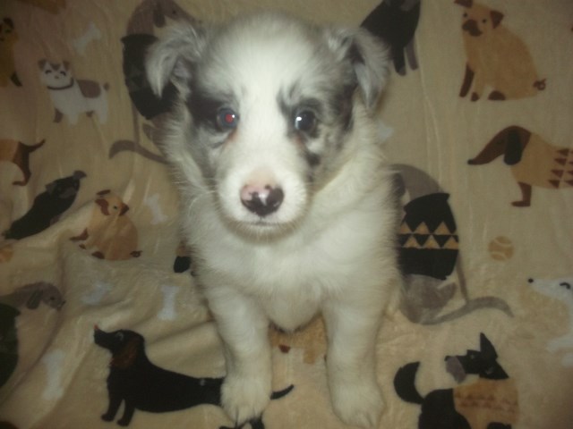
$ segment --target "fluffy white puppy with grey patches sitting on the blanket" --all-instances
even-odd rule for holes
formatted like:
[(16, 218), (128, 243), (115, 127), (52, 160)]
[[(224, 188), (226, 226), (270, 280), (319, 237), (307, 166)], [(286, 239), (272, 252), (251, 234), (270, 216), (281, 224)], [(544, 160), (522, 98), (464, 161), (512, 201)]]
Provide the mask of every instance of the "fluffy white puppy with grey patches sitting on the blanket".
[(226, 347), (222, 403), (239, 423), (269, 401), (269, 322), (293, 331), (319, 311), (336, 413), (379, 419), (374, 350), (399, 279), (375, 117), (389, 63), (380, 43), (259, 13), (181, 25), (150, 49), (151, 88), (178, 89), (162, 149)]

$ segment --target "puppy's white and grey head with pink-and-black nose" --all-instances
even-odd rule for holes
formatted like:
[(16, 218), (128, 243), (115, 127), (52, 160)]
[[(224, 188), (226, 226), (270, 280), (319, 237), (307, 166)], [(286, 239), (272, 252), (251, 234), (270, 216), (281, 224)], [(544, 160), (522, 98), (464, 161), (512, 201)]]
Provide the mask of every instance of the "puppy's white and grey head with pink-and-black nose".
[(302, 218), (357, 150), (352, 136), (378, 103), (387, 55), (361, 29), (263, 13), (175, 27), (146, 66), (159, 95), (168, 81), (179, 90), (164, 148), (184, 181), (209, 189), (227, 221), (262, 233)]

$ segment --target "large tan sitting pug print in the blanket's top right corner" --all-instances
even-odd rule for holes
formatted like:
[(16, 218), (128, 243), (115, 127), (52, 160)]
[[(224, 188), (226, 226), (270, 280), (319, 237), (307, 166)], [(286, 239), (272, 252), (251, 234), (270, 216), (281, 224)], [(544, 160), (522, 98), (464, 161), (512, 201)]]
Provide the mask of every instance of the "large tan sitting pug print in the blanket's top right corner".
[(472, 101), (492, 88), (490, 100), (532, 97), (545, 88), (523, 41), (502, 24), (503, 13), (473, 0), (456, 0), (466, 8), (462, 24), (466, 47), (466, 76), (459, 97), (466, 97), (472, 83)]

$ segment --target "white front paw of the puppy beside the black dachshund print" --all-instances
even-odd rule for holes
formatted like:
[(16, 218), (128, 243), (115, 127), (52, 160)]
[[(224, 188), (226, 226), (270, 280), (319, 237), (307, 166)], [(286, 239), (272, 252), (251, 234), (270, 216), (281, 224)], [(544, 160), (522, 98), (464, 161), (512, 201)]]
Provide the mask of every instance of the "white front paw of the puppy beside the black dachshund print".
[(270, 380), (264, 376), (228, 375), (221, 388), (221, 402), (227, 415), (240, 425), (259, 417), (270, 400)]

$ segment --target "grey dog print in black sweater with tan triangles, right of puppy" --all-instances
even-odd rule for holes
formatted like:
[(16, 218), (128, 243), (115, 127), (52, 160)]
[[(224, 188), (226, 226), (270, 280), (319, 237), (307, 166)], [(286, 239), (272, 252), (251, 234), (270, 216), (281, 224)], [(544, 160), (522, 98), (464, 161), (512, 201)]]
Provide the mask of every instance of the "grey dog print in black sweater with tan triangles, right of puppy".
[[(397, 196), (409, 198), (398, 231), (398, 257), (405, 275), (402, 313), (416, 324), (440, 324), (483, 308), (497, 308), (511, 316), (502, 299), (470, 296), (449, 194), (430, 174), (412, 165), (393, 164), (392, 168), (397, 172)], [(445, 282), (454, 271), (457, 282)], [(464, 303), (443, 313), (457, 290)]]

